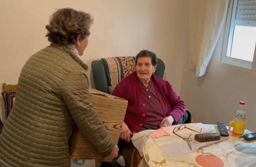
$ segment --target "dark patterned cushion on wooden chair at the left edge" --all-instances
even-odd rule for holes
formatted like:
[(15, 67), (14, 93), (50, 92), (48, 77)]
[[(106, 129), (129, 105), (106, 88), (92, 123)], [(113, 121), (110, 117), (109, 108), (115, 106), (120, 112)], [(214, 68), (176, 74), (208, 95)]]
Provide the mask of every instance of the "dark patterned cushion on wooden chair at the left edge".
[(4, 98), (4, 106), (5, 106), (5, 119), (7, 119), (8, 115), (13, 108), (15, 101), (16, 92), (15, 91), (6, 91), (2, 93), (2, 97)]

